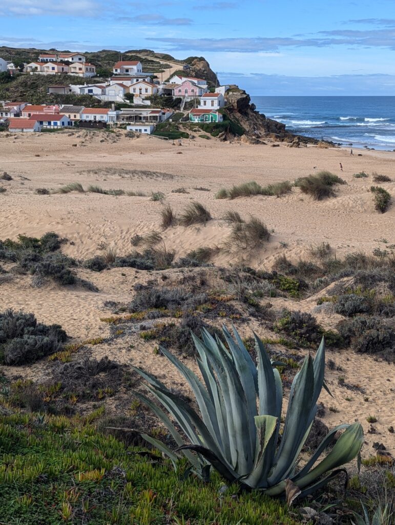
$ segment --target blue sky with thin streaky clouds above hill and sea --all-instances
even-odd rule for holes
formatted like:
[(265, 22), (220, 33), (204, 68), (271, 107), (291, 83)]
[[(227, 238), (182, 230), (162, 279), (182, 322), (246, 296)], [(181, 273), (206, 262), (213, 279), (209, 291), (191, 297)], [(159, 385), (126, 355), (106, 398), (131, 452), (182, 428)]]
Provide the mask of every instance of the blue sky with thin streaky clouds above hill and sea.
[(394, 0), (1, 0), (2, 45), (205, 56), (251, 95), (395, 95)]

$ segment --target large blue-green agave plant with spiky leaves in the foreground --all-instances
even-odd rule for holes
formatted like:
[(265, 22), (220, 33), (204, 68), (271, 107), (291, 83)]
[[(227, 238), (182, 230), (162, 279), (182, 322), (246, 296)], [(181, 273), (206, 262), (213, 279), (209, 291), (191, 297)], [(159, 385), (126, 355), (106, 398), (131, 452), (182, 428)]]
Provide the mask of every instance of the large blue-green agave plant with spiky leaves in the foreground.
[[(359, 423), (343, 424), (331, 430), (303, 468), (296, 469), (324, 385), (324, 339), (315, 358), (308, 355), (294, 378), (282, 425), (281, 378), (262, 341), (254, 334), (258, 356), (255, 366), (237, 330), (233, 328), (234, 340), (225, 327), (222, 331), (226, 344), (211, 337), (206, 330), (202, 330), (202, 340), (192, 334), (202, 381), (172, 353), (161, 348), (189, 383), (200, 414), (153, 375), (134, 368), (146, 380), (148, 392), (177, 422), (188, 443), (163, 409), (139, 394), (162, 419), (178, 449), (174, 453), (159, 440), (147, 434), (142, 436), (169, 456), (174, 465), (177, 454), (182, 453), (202, 475), (207, 475), (212, 466), (229, 482), (238, 481), (272, 496), (283, 495), (285, 491), (288, 494), (291, 487), (294, 497), (299, 494), (303, 497), (344, 471), (339, 467), (355, 458), (362, 446)], [(341, 429), (345, 432), (329, 454), (316, 464)]]

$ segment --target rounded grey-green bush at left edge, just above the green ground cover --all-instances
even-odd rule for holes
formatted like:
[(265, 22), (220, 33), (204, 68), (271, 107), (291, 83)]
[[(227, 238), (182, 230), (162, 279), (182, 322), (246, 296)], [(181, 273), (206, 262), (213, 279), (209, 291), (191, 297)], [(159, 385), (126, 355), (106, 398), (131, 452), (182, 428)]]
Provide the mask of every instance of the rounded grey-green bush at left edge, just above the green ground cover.
[(7, 365), (32, 363), (57, 352), (67, 334), (59, 324), (38, 323), (33, 313), (0, 313), (0, 353)]

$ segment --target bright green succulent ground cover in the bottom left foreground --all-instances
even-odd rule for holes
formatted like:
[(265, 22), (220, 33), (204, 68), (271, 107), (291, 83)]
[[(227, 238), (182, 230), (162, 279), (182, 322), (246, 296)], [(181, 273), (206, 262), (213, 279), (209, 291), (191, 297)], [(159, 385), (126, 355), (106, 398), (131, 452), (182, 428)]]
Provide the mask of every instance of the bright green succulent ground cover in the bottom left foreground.
[[(93, 416), (98, 417), (102, 410)], [(89, 418), (92, 419), (92, 418)], [(60, 525), (267, 525), (298, 523), (258, 492), (220, 495), (222, 481), (183, 478), (169, 460), (139, 455), (88, 419), (11, 414), (0, 419), (0, 516), (4, 523)], [(237, 496), (236, 496), (237, 495)], [(188, 521), (189, 520), (189, 521)]]

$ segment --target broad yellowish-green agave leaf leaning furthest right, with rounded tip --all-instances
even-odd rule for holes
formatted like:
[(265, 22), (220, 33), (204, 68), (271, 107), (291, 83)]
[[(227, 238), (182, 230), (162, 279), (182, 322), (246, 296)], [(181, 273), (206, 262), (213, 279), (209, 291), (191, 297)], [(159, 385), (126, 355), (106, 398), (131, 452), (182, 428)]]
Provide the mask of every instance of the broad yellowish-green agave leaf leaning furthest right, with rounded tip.
[(297, 485), (301, 488), (311, 485), (316, 479), (321, 477), (325, 472), (333, 470), (354, 459), (362, 444), (364, 443), (364, 434), (360, 423), (354, 423), (346, 428), (341, 434), (333, 449), (316, 467), (308, 472), (302, 478), (297, 480)]

